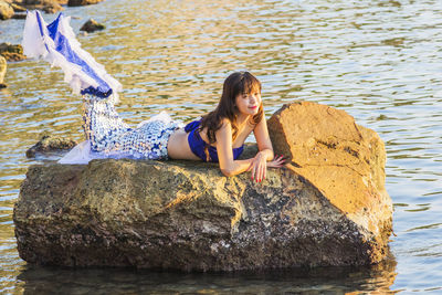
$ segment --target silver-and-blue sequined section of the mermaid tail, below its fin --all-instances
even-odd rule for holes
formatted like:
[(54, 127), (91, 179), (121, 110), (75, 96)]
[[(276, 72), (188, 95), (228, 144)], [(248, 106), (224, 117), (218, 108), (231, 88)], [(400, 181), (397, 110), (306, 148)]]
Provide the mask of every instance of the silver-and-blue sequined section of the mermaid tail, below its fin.
[(167, 159), (167, 141), (181, 123), (156, 117), (129, 128), (118, 116), (112, 99), (84, 96), (86, 139), (93, 152), (107, 158)]

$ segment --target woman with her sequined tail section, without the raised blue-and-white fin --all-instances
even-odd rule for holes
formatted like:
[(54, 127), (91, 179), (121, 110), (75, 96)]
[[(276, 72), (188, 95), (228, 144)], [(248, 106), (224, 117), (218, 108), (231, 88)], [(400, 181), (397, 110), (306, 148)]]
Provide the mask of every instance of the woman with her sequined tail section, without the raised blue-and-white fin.
[[(119, 118), (112, 102), (88, 97), (84, 126), (95, 157), (213, 161), (219, 162), (225, 176), (251, 171), (257, 182), (265, 178), (266, 167), (284, 164), (282, 157), (273, 159), (261, 83), (249, 72), (231, 74), (224, 81), (217, 108), (185, 128), (162, 115), (131, 129)], [(253, 158), (239, 160), (252, 131), (260, 151)]]

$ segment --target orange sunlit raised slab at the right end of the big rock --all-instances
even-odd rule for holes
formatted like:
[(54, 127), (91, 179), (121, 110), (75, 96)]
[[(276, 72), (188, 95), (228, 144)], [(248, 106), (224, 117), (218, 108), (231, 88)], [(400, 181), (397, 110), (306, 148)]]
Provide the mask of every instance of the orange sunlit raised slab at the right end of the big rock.
[(391, 233), (392, 204), (385, 189), (386, 150), (378, 134), (344, 110), (308, 102), (284, 105), (269, 119), (275, 154), (314, 185), (333, 206), (373, 233)]

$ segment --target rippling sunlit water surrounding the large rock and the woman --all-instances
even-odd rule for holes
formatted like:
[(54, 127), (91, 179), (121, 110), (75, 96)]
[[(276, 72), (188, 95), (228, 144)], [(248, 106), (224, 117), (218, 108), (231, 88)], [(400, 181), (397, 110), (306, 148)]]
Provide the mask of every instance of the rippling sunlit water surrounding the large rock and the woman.
[[(387, 148), (394, 203), (393, 259), (376, 267), (259, 274), (179, 274), (28, 266), (12, 209), (25, 150), (43, 133), (82, 138), (80, 98), (43, 62), (9, 63), (0, 91), (0, 293), (136, 294), (442, 293), (442, 6), (440, 1), (122, 1), (66, 8), (72, 25), (125, 91), (136, 124), (166, 109), (183, 120), (211, 110), (229, 73), (263, 83), (267, 116), (305, 99), (351, 114)], [(48, 21), (55, 15), (45, 15)], [(0, 22), (21, 42), (23, 20)]]

